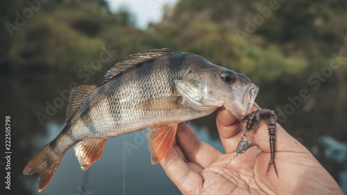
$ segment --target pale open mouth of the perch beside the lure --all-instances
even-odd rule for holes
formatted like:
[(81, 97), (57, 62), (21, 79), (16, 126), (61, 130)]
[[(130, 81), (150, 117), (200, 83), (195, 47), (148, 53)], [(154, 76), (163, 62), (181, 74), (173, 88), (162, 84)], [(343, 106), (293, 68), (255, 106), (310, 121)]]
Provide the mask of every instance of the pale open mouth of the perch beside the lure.
[(239, 104), (239, 116), (235, 116), (241, 119), (244, 115), (251, 113), (251, 108), (255, 103), (255, 98), (259, 92), (259, 87), (253, 83), (246, 85), (245, 87), (239, 88), (236, 92), (236, 102)]

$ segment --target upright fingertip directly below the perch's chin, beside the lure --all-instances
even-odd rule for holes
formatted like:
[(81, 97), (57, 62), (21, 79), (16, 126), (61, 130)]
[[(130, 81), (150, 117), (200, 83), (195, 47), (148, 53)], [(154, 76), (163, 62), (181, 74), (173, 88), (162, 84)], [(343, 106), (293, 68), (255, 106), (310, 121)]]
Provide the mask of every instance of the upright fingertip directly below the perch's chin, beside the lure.
[(216, 118), (217, 129), (221, 144), (226, 153), (236, 151), (244, 129), (240, 122), (225, 108), (219, 108)]

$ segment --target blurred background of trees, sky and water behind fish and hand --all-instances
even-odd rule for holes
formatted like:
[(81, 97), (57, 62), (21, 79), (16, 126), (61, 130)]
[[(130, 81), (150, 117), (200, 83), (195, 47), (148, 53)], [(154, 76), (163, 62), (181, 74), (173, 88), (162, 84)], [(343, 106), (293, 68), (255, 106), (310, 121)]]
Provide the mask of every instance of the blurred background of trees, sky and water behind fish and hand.
[[(1, 187), (1, 194), (37, 194), (37, 175), (22, 170), (62, 130), (73, 87), (99, 85), (115, 62), (158, 48), (195, 53), (251, 78), (260, 87), (257, 103), (275, 110), (347, 193), (347, 1), (0, 5), (0, 112), (3, 121), (10, 115), (12, 129), (11, 190)], [(189, 124), (223, 151), (214, 120), (213, 114)], [(144, 133), (109, 139), (88, 171), (69, 150), (40, 194), (180, 194), (160, 165), (151, 165)], [(5, 164), (0, 158), (1, 180)]]

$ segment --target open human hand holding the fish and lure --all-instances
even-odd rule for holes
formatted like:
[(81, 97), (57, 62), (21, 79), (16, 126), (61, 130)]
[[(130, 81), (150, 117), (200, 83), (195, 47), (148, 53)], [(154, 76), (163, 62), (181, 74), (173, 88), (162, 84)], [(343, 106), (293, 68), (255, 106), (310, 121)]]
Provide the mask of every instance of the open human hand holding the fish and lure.
[(253, 145), (215, 178), (235, 155), (245, 125), (228, 110), (218, 110), (217, 129), (226, 151), (223, 154), (201, 142), (192, 128), (181, 123), (176, 143), (160, 164), (182, 194), (344, 194), (310, 151), (278, 124), (275, 153), (278, 177), (272, 166), (266, 176), (270, 161), (266, 119), (247, 133), (247, 140)]

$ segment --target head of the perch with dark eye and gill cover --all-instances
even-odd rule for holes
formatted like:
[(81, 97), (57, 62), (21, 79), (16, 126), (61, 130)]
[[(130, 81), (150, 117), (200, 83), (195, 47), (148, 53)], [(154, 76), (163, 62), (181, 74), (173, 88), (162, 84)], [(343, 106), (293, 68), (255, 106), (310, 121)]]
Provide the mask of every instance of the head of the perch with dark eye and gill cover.
[(175, 83), (192, 108), (207, 111), (224, 106), (237, 119), (251, 112), (259, 88), (244, 74), (207, 60), (204, 65), (192, 66), (187, 72)]

